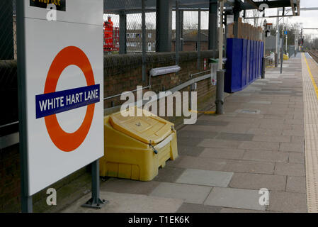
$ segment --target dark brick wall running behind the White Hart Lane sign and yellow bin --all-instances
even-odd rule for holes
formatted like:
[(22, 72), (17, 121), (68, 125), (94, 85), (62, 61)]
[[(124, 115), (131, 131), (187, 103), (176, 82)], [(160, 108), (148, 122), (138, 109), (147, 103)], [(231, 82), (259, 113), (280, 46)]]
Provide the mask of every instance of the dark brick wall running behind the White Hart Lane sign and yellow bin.
[[(188, 81), (191, 73), (203, 71), (204, 58), (216, 56), (216, 51), (202, 51), (200, 70), (198, 70), (197, 53), (181, 52), (179, 58), (181, 71), (176, 74), (152, 77), (152, 91), (161, 92)], [(137, 85), (146, 87), (149, 84), (149, 70), (155, 67), (175, 65), (175, 55), (170, 52), (147, 54), (147, 79), (144, 83), (142, 83), (141, 65), (141, 55), (106, 55), (104, 57), (104, 96), (113, 96), (121, 92), (131, 91), (136, 89)], [(5, 83), (9, 83), (9, 92), (15, 94), (17, 91), (16, 85), (14, 85), (16, 84), (16, 61), (5, 62), (5, 64), (1, 64), (0, 62), (0, 72), (2, 72), (2, 74), (0, 74), (1, 91), (8, 89)], [(186, 87), (184, 90), (189, 90), (189, 87)], [(210, 79), (198, 82), (198, 109), (211, 106), (214, 94), (215, 87), (210, 84)], [(8, 118), (8, 121), (14, 120), (11, 119), (12, 116), (16, 118), (18, 114), (17, 96), (12, 95), (11, 99), (12, 100), (6, 99), (6, 107), (11, 114), (7, 114), (8, 116), (1, 115), (1, 117)], [(1, 99), (1, 106), (4, 105), (2, 101), (4, 101), (4, 99)], [(118, 106), (121, 103), (123, 103), (123, 101), (120, 101), (120, 97), (108, 99), (104, 101), (104, 108)], [(176, 123), (182, 118), (170, 117), (168, 119)], [(11, 129), (11, 131), (12, 130), (13, 129)], [(15, 128), (15, 130), (17, 129)], [(14, 132), (14, 130), (12, 132)], [(18, 144), (16, 144), (8, 148), (0, 149), (0, 212), (20, 211), (20, 160), (18, 147)], [(90, 187), (89, 180), (89, 171), (87, 167), (84, 167), (55, 183), (52, 187), (57, 189), (58, 206), (61, 206), (59, 205), (61, 204), (60, 201), (67, 201), (67, 203), (69, 203), (69, 196), (71, 194), (73, 199), (77, 199), (84, 193), (88, 193), (86, 191)], [(47, 196), (45, 192), (46, 189), (33, 196), (35, 211), (47, 211), (47, 209), (49, 209), (45, 204)], [(76, 194), (76, 196), (73, 196), (74, 194)], [(52, 207), (50, 207), (50, 209), (52, 209)]]

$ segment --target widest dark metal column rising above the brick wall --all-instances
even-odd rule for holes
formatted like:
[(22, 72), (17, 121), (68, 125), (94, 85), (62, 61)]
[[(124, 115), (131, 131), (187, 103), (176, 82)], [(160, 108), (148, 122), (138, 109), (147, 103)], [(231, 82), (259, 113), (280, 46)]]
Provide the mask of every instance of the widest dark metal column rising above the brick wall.
[(171, 52), (172, 1), (157, 0), (156, 52)]

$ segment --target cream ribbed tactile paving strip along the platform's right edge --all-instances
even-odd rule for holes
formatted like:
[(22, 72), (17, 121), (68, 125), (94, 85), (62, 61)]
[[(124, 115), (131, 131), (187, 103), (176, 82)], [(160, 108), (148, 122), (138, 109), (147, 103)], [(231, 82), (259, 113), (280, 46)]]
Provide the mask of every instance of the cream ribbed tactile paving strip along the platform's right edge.
[[(314, 71), (318, 74), (318, 67)], [(318, 212), (318, 88), (302, 54), (302, 87), (304, 94), (305, 160), (307, 210)]]

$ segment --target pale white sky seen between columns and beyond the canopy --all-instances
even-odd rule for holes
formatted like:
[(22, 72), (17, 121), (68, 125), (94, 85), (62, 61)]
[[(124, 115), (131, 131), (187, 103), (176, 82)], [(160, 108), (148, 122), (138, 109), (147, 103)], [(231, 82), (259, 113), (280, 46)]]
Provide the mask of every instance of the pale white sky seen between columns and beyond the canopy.
[[(318, 0), (300, 0), (300, 8), (308, 8), (308, 7), (318, 7)], [(280, 11), (281, 13), (281, 11)], [(266, 16), (274, 16), (277, 14), (277, 9), (266, 9)], [(291, 14), (291, 11), (290, 13)], [(198, 12), (188, 11), (184, 13), (184, 23), (198, 23)], [(105, 15), (106, 19), (107, 16)], [(175, 18), (176, 14), (172, 13), (172, 29), (175, 29)], [(112, 15), (112, 20), (115, 26), (119, 25), (119, 17)], [(130, 14), (127, 16), (127, 28), (129, 29), (133, 21), (141, 21), (141, 14)], [(150, 23), (156, 23), (156, 15), (155, 13), (146, 13), (146, 21)], [(266, 18), (268, 23), (273, 23), (276, 25), (276, 18)], [(303, 23), (303, 28), (318, 28), (318, 11), (300, 11), (300, 16), (295, 17), (285, 17), (280, 19), (280, 23)], [(252, 20), (245, 21), (248, 23), (252, 23)], [(208, 29), (208, 12), (203, 11), (201, 13), (201, 29)], [(305, 30), (303, 31), (305, 34), (311, 34), (312, 38), (318, 38), (318, 30)]]

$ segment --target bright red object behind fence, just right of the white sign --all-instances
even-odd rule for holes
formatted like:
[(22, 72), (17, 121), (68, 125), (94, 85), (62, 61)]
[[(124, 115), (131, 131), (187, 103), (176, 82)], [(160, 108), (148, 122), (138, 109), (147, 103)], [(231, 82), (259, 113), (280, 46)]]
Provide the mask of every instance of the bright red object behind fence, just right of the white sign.
[(113, 26), (110, 16), (104, 22), (104, 51), (119, 51), (119, 28)]

